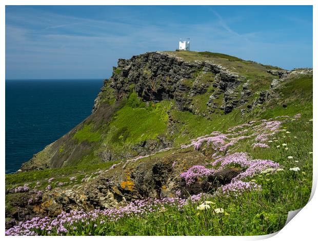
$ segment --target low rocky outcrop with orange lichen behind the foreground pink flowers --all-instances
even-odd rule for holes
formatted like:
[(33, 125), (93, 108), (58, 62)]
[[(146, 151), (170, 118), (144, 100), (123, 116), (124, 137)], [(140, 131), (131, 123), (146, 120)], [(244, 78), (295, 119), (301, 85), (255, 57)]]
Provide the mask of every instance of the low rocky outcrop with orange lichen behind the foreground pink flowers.
[[(6, 213), (7, 228), (15, 224), (11, 219), (52, 217), (62, 211), (107, 209), (125, 206), (141, 198), (177, 196), (176, 192), (182, 188), (180, 174), (185, 168), (205, 163), (206, 158), (200, 152), (181, 150), (164, 157), (149, 157), (101, 170), (97, 176), (88, 177), (81, 184), (44, 190), (39, 198), (36, 198), (37, 191), (19, 193), (22, 197), (16, 200), (16, 204), (12, 203), (17, 211)], [(200, 191), (202, 188), (193, 192)]]

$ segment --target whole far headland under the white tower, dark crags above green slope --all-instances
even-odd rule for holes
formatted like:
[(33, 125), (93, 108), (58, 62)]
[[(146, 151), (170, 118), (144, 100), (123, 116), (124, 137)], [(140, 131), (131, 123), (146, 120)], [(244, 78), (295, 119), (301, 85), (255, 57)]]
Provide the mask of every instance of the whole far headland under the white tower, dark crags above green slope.
[[(150, 154), (208, 133), (208, 127), (197, 131), (194, 122), (209, 126), (220, 116), (240, 119), (262, 112), (268, 101), (283, 102), (275, 88), (290, 72), (229, 55), (187, 54), (192, 53), (196, 55), (190, 61), (178, 52), (119, 59), (95, 99), (92, 114), (34, 155), (22, 170)], [(186, 125), (192, 130), (185, 130)]]

